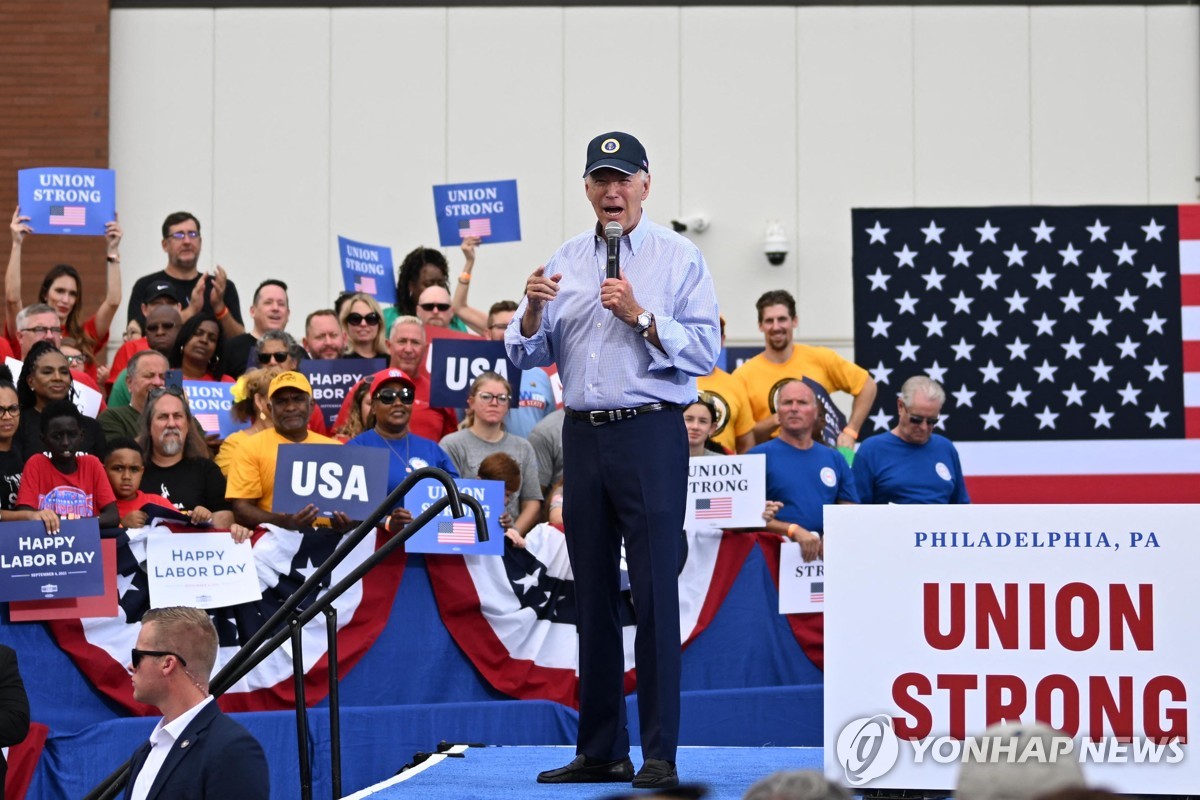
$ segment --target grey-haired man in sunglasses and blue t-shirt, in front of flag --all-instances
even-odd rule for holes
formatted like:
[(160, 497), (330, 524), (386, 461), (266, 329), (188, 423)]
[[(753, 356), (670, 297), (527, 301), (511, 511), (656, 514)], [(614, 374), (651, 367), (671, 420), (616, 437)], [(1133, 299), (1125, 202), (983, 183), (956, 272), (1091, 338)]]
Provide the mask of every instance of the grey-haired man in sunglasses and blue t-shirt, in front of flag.
[(934, 433), (946, 390), (926, 375), (904, 381), (896, 411), (900, 421), (869, 438), (854, 453), (854, 482), (863, 503), (971, 503), (959, 451)]

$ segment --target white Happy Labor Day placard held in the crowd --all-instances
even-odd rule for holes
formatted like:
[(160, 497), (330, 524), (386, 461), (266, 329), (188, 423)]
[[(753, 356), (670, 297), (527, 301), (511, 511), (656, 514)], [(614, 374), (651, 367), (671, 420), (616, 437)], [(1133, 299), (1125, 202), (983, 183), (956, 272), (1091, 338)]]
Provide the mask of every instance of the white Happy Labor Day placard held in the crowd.
[(229, 531), (173, 534), (155, 528), (146, 536), (150, 603), (224, 608), (263, 599), (250, 542)]

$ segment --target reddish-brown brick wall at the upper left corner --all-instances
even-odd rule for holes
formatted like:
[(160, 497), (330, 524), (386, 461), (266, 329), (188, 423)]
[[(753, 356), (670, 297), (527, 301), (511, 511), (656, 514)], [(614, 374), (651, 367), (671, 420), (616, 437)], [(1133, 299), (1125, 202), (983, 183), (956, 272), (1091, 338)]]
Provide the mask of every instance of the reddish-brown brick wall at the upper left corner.
[[(18, 169), (108, 166), (108, 0), (0, 2), (0, 264), (7, 265)], [(58, 263), (79, 270), (86, 318), (104, 293), (103, 240), (28, 236), (25, 303)]]

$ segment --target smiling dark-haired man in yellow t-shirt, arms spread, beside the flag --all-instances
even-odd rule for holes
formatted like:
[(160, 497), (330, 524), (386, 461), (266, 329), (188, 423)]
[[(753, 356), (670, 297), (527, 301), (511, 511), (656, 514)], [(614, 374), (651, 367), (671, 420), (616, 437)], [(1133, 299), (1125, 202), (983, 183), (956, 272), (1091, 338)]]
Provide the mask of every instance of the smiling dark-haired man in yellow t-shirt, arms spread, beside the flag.
[(853, 395), (850, 422), (838, 435), (839, 447), (853, 447), (875, 403), (877, 387), (870, 373), (829, 348), (796, 344), (792, 337), (799, 320), (796, 317), (796, 299), (790, 293), (782, 289), (767, 291), (755, 305), (758, 308), (758, 330), (767, 347), (733, 373), (750, 399), (755, 441), (767, 441), (779, 431), (779, 415), (775, 413), (779, 386), (790, 379), (810, 378), (829, 393), (842, 391)]

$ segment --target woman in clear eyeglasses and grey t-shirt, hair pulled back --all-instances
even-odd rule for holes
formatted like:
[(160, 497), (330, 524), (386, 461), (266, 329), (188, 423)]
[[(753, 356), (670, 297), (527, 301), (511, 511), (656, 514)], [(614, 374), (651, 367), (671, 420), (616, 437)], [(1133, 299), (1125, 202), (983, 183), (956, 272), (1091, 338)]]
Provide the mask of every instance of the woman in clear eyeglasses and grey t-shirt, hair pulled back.
[(538, 485), (538, 457), (533, 445), (504, 429), (512, 390), (509, 381), (494, 372), (485, 372), (470, 385), (467, 397), (467, 420), (463, 428), (442, 439), (442, 449), (450, 453), (458, 474), (478, 477), (479, 464), (493, 452), (508, 453), (521, 465), (521, 492), (505, 511), (514, 519), (512, 527), (524, 536), (541, 517), (541, 487)]

